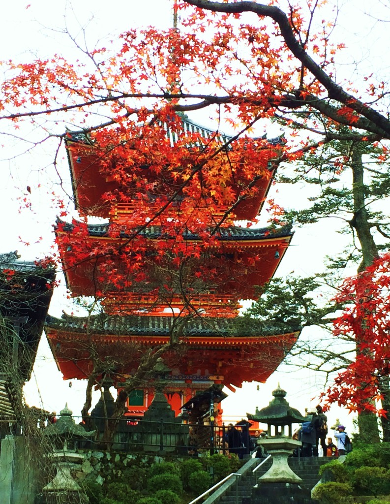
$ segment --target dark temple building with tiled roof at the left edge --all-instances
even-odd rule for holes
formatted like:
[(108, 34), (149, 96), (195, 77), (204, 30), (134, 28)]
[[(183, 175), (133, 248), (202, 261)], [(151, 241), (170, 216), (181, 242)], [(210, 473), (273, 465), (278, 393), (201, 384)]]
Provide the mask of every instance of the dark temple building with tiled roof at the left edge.
[[(53, 265), (0, 254), (0, 433), (19, 424), (22, 388), (31, 377), (52, 295)], [(3, 430), (5, 427), (5, 430)]]

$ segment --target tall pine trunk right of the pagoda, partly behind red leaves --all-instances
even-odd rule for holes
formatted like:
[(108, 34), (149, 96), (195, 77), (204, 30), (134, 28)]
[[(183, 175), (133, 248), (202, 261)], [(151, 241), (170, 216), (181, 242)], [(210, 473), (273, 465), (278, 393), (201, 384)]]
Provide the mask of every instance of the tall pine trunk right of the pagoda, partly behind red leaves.
[[(363, 272), (371, 266), (378, 257), (378, 249), (371, 234), (371, 226), (368, 220), (365, 202), (364, 187), (364, 165), (362, 162), (362, 150), (360, 143), (351, 146), (351, 168), (352, 168), (352, 195), (353, 195), (353, 218), (350, 225), (355, 230), (360, 243), (362, 260), (358, 267), (358, 273)], [(369, 316), (369, 314), (368, 314)], [(364, 321), (362, 321), (364, 326)], [(364, 327), (362, 327), (364, 334)], [(359, 351), (359, 341), (356, 340), (357, 352)], [(358, 417), (360, 438), (368, 443), (379, 443), (379, 430), (377, 417), (371, 411), (363, 411)]]

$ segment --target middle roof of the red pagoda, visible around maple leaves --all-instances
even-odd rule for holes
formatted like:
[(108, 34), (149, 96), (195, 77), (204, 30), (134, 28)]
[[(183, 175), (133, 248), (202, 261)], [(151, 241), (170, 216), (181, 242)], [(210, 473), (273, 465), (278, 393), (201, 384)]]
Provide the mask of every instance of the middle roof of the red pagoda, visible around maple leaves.
[[(56, 233), (58, 236), (66, 235), (67, 233), (72, 233), (72, 230), (78, 226), (77, 222), (71, 224), (57, 220)], [(82, 224), (82, 226), (84, 226), (84, 224)], [(140, 228), (134, 229), (134, 237), (136, 237), (137, 229)], [(87, 224), (86, 232), (89, 233), (89, 245), (94, 248), (93, 240), (99, 241), (104, 239), (107, 240), (105, 242), (106, 245), (115, 244), (116, 246), (116, 244), (121, 244), (121, 240), (126, 241), (131, 239), (132, 230), (125, 230), (122, 231), (122, 233), (120, 233), (119, 230), (119, 226), (112, 225), (111, 227), (109, 223)], [(273, 277), (284, 257), (293, 234), (290, 227), (219, 227), (214, 235), (215, 242), (213, 245), (209, 246), (207, 249), (205, 247), (205, 254), (209, 254), (206, 261), (214, 268), (221, 268), (221, 261), (217, 258), (217, 255), (230, 254), (232, 255), (232, 259), (228, 259), (225, 262), (225, 267), (223, 271), (220, 272), (221, 276), (219, 277), (219, 281), (208, 287), (210, 295), (215, 294), (217, 297), (229, 296), (228, 299), (235, 303), (238, 302), (238, 299), (256, 298), (258, 295), (257, 286), (266, 284), (270, 278)], [(145, 228), (141, 228), (137, 236), (138, 238), (144, 238), (146, 242), (150, 240), (149, 244), (152, 248), (160, 239), (166, 240), (176, 238), (163, 235), (162, 228), (152, 224), (147, 225)], [(202, 238), (198, 234), (184, 232), (181, 236), (185, 241), (198, 241), (202, 244)], [(154, 240), (156, 240), (155, 243), (153, 243)], [(85, 261), (75, 263), (72, 256), (72, 245), (65, 245), (61, 248), (61, 242), (59, 242), (59, 247), (67, 286), (72, 291), (73, 296), (93, 295), (96, 288), (102, 293), (104, 292), (104, 295), (101, 297), (112, 298), (113, 295), (116, 295), (118, 289), (114, 285), (103, 283), (101, 279), (99, 279), (99, 275), (97, 275), (97, 277), (94, 276), (95, 273), (99, 274), (103, 259), (98, 258), (97, 264), (93, 263), (93, 266), (90, 266), (92, 265), (91, 261), (95, 261), (95, 259), (92, 255), (89, 255)], [(201, 255), (202, 254), (203, 252), (201, 251)], [(117, 263), (118, 268), (124, 267), (123, 264), (120, 264), (120, 259), (113, 258), (113, 262), (115, 262), (115, 264)], [(137, 288), (134, 289), (134, 285), (129, 283), (129, 287), (125, 288), (127, 297), (131, 292), (134, 292), (135, 297), (133, 299), (129, 297), (128, 299), (126, 298), (127, 300), (124, 304), (128, 306), (134, 305), (134, 308), (135, 305), (138, 305), (139, 309), (142, 308), (141, 304), (145, 304), (145, 302), (149, 307), (152, 305), (156, 306), (156, 303), (157, 305), (161, 304), (161, 299), (156, 296), (155, 292), (150, 294), (150, 290), (153, 288), (153, 282), (143, 286), (137, 285), (136, 287)], [(143, 295), (152, 295), (152, 297), (141, 299), (140, 296)], [(191, 297), (194, 298), (197, 296), (193, 296), (192, 293)], [(122, 299), (124, 301), (124, 298)], [(120, 301), (120, 299), (117, 298), (117, 301)], [(215, 309), (219, 310), (221, 303), (218, 302), (218, 299), (212, 299), (210, 296), (209, 301), (211, 302), (210, 306), (205, 296), (203, 296), (202, 300), (200, 299), (202, 306), (199, 305), (199, 307), (202, 309), (207, 308), (208, 315), (213, 316), (212, 311), (215, 312)], [(179, 299), (172, 299), (172, 302), (177, 306), (181, 306)], [(215, 305), (215, 302), (217, 302), (217, 305)], [(209, 306), (210, 310), (206, 305)], [(233, 305), (231, 305), (230, 308), (236, 312), (238, 306), (233, 307)], [(112, 309), (114, 309), (114, 307), (112, 307)], [(128, 314), (128, 309), (126, 311)]]

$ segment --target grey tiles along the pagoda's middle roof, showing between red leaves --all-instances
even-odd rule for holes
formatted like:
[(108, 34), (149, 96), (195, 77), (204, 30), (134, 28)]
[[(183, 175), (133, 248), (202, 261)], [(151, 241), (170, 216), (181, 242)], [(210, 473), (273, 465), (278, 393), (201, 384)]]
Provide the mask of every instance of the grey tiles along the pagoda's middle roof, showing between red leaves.
[[(73, 224), (57, 219), (57, 224), (64, 224), (64, 231), (72, 231)], [(108, 236), (109, 223), (101, 224), (88, 224), (90, 236)], [(161, 226), (150, 225), (141, 231), (141, 234), (150, 239), (158, 239), (161, 237)], [(220, 227), (215, 236), (217, 239), (226, 240), (259, 240), (267, 238), (282, 238), (285, 236), (292, 236), (294, 233), (291, 227), (280, 227), (278, 229), (272, 227), (254, 228), (254, 227)], [(128, 237), (128, 233), (122, 232), (121, 238)], [(187, 240), (198, 240), (199, 235), (190, 232), (183, 233), (183, 237)]]

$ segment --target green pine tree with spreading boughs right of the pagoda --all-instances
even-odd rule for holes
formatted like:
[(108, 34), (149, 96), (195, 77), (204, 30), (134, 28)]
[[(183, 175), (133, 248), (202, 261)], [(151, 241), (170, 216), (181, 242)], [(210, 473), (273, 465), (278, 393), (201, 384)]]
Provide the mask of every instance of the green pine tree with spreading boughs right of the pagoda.
[[(379, 257), (381, 250), (387, 249), (389, 226), (384, 204), (389, 196), (387, 179), (387, 163), (382, 161), (382, 149), (368, 142), (332, 141), (315, 156), (306, 155), (295, 164), (292, 173), (284, 170), (279, 175), (280, 181), (303, 182), (309, 184), (312, 191), (307, 208), (286, 210), (283, 219), (295, 227), (333, 219), (339, 232), (345, 236), (345, 246), (337, 255), (328, 257), (327, 272), (316, 278), (273, 280), (267, 295), (254, 304), (249, 313), (264, 318), (267, 311), (272, 319), (295, 320), (295, 323), (299, 319), (303, 326), (317, 325), (331, 331), (335, 312), (342, 305), (338, 302), (324, 304), (323, 299), (313, 291), (318, 293), (322, 288), (328, 290), (328, 298), (334, 296), (346, 268), (357, 263), (358, 272), (363, 272)], [(279, 308), (272, 306), (275, 296), (279, 296)], [(323, 335), (317, 345), (311, 338), (310, 341), (302, 338), (293, 354), (298, 355), (305, 366), (310, 355), (310, 367), (323, 372), (329, 380), (332, 373), (351, 363), (356, 340), (360, 337), (360, 334), (350, 333), (344, 335), (342, 344), (338, 344), (334, 338)], [(380, 386), (385, 396), (388, 391), (385, 377)], [(360, 404), (362, 408), (364, 402)], [(367, 404), (367, 409), (375, 410), (375, 407)], [(372, 436), (375, 422), (364, 429), (362, 424), (366, 421), (368, 419), (361, 412), (360, 431), (366, 430)], [(383, 425), (387, 419), (382, 418), (381, 421)], [(387, 436), (387, 428), (383, 431)]]

